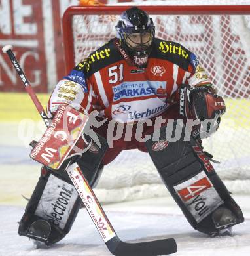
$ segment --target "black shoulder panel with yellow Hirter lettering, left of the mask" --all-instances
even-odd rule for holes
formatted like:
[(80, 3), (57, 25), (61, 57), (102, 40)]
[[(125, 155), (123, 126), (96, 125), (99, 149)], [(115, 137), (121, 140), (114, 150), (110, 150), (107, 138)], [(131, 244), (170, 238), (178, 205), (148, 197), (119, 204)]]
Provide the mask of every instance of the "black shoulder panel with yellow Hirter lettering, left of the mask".
[(122, 60), (123, 57), (116, 49), (114, 41), (115, 39), (111, 39), (109, 43), (92, 52), (75, 67), (75, 70), (84, 72), (85, 77), (88, 78), (98, 70)]

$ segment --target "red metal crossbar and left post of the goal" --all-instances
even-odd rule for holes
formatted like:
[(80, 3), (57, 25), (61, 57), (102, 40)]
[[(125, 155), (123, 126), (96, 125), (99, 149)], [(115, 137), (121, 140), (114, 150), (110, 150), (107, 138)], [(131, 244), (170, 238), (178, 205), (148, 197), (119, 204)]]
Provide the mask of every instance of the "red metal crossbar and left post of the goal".
[[(72, 32), (72, 18), (75, 15), (119, 15), (131, 6), (71, 6), (63, 14), (63, 44), (65, 54), (65, 70), (69, 72), (74, 66), (74, 39)], [(140, 6), (141, 9), (152, 15), (247, 15), (250, 14), (250, 5), (158, 5)]]

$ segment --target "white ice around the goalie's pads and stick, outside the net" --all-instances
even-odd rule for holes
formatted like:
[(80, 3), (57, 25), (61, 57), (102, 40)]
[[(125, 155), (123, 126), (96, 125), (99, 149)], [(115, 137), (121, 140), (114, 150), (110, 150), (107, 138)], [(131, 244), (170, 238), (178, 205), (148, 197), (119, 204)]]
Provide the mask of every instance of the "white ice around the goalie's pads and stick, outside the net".
[[(21, 194), (31, 196), (40, 165), (29, 160), (29, 148), (10, 136), (7, 128), (0, 125), (0, 256), (111, 255), (85, 209), (79, 211), (69, 234), (51, 247), (34, 249), (31, 240), (18, 236), (18, 221), (26, 205)], [(174, 255), (250, 255), (250, 196), (234, 198), (243, 209), (245, 223), (234, 227), (233, 237), (209, 238), (193, 230), (171, 198), (116, 203), (104, 209), (124, 241), (172, 237), (178, 246)]]

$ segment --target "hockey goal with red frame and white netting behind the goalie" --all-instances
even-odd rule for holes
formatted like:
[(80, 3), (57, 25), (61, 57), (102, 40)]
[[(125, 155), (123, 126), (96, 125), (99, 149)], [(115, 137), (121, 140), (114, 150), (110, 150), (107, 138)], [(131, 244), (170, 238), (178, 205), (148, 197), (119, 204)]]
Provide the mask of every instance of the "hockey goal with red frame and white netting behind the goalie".
[[(119, 14), (128, 7), (70, 7), (63, 16), (67, 72), (116, 36)], [(181, 43), (198, 56), (218, 94), (226, 101), (219, 130), (203, 141), (213, 164), (233, 193), (250, 192), (250, 7), (145, 6), (156, 37)], [(168, 192), (148, 154), (122, 152), (103, 171), (96, 189), (101, 202), (117, 202)]]

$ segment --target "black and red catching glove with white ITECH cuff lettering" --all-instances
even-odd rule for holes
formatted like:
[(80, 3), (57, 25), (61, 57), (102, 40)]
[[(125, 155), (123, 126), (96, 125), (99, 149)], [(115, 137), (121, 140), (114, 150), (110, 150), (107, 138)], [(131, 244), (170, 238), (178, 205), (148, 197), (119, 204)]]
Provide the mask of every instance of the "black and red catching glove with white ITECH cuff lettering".
[(214, 133), (226, 112), (223, 98), (215, 93), (212, 85), (180, 87), (180, 114), (187, 119), (198, 119), (201, 123), (192, 129), (195, 139), (204, 139)]

